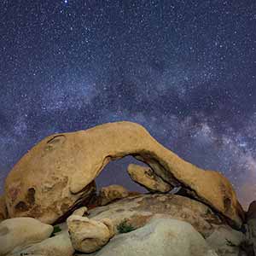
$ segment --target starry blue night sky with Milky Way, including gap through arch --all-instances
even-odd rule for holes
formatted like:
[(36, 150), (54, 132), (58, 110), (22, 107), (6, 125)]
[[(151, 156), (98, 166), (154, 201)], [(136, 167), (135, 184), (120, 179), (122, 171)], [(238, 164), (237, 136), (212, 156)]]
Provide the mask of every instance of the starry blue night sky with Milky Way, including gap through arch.
[(254, 0), (2, 0), (0, 34), (1, 191), (44, 137), (130, 120), (256, 199)]

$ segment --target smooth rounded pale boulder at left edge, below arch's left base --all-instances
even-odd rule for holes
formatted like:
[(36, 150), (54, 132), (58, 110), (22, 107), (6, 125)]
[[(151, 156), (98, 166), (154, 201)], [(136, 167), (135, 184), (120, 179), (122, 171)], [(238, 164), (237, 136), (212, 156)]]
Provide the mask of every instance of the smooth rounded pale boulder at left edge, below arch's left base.
[(0, 255), (43, 241), (53, 231), (35, 218), (9, 218), (0, 223)]

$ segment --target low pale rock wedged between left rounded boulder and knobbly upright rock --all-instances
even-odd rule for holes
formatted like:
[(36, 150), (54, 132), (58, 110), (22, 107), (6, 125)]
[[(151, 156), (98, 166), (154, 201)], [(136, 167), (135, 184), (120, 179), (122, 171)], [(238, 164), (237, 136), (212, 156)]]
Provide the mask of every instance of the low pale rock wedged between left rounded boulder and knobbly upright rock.
[(38, 242), (8, 256), (72, 256), (74, 249), (67, 232)]

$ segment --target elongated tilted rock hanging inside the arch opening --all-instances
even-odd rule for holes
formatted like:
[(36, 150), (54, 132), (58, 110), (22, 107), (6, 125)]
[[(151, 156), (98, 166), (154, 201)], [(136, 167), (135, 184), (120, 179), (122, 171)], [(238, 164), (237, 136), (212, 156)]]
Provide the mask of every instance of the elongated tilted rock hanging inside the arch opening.
[(131, 179), (150, 192), (168, 192), (172, 186), (158, 177), (150, 167), (131, 164), (127, 169)]

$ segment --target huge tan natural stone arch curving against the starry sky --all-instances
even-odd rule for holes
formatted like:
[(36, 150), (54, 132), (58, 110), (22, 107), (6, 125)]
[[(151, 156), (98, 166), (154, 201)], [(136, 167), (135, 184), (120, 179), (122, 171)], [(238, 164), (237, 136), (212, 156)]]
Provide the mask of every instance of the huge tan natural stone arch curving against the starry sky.
[(132, 155), (172, 186), (241, 227), (244, 212), (230, 182), (182, 160), (131, 122), (98, 125), (86, 131), (44, 138), (15, 165), (5, 182), (9, 216), (53, 223), (94, 192), (94, 180), (111, 160)]

